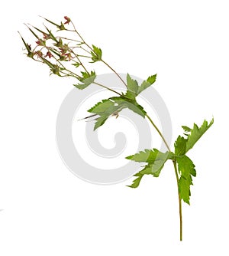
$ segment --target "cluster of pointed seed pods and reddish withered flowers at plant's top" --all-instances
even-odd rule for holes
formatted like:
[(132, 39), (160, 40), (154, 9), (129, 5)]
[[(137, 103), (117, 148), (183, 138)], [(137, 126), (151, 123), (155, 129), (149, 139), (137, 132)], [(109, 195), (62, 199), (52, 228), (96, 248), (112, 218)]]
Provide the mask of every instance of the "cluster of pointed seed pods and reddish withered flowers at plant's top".
[[(76, 31), (75, 25), (71, 19), (64, 16), (64, 21), (56, 24), (53, 21), (44, 18), (49, 24), (54, 25), (57, 31), (53, 33), (51, 29), (44, 25), (44, 29), (27, 25), (27, 28), (34, 35), (34, 48), (27, 44), (21, 37), (27, 50), (27, 57), (34, 61), (46, 64), (50, 68), (50, 74), (56, 74), (60, 77), (76, 77), (81, 84), (76, 86), (85, 86), (90, 81), (95, 80), (95, 72), (88, 71), (86, 65), (95, 61), (102, 61), (102, 51), (95, 45), (89, 46)], [(72, 25), (72, 28), (69, 26)], [(71, 38), (63, 36), (71, 34)], [(72, 39), (72, 34), (76, 39)], [(86, 62), (86, 63), (85, 63)], [(76, 68), (77, 71), (76, 71)], [(84, 82), (84, 80), (87, 80)]]

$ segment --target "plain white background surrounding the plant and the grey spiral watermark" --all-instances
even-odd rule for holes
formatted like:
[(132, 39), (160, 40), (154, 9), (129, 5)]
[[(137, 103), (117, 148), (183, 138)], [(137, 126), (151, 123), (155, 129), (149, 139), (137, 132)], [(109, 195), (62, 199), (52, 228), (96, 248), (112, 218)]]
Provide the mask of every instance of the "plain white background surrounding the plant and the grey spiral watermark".
[[(228, 255), (227, 1), (25, 1), (1, 7), (0, 254)], [(66, 169), (55, 124), (72, 84), (27, 59), (17, 31), (68, 15), (121, 73), (158, 74), (173, 120), (214, 126), (189, 153), (197, 177), (183, 205), (184, 241), (173, 166), (138, 189), (92, 185)], [(27, 37), (28, 41), (32, 36)], [(98, 74), (109, 72), (99, 67)]]

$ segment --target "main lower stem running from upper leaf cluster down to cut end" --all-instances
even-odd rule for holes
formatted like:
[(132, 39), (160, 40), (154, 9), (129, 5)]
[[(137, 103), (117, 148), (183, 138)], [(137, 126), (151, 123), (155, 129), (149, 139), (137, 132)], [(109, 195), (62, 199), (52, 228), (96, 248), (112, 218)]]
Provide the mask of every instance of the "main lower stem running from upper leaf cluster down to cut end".
[[(157, 128), (156, 124), (153, 123), (153, 120), (147, 114), (146, 114), (146, 117), (148, 118), (148, 120), (150, 120), (150, 123), (152, 123), (152, 125), (156, 129), (157, 133), (159, 133), (160, 137), (163, 139), (163, 142), (165, 143), (166, 148), (169, 150), (169, 152), (171, 152), (169, 145), (166, 142), (165, 137), (160, 132), (160, 130)], [(178, 174), (178, 170), (177, 170), (177, 166), (176, 166), (176, 159), (173, 159), (173, 166), (174, 166), (174, 171), (175, 171), (175, 175), (176, 175), (176, 184), (177, 184), (178, 199), (179, 199), (179, 240), (182, 241), (182, 202), (181, 202), (180, 195), (179, 195), (179, 174)]]

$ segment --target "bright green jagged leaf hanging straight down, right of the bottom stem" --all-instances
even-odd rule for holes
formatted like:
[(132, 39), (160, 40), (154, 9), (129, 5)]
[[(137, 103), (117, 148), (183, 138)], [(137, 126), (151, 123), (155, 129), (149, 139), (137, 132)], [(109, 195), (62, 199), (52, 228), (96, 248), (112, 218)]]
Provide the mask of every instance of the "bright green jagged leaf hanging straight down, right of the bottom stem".
[(190, 185), (192, 185), (192, 176), (196, 176), (195, 165), (188, 156), (177, 157), (176, 161), (178, 163), (178, 169), (180, 174), (178, 182), (179, 195), (184, 202), (190, 204)]

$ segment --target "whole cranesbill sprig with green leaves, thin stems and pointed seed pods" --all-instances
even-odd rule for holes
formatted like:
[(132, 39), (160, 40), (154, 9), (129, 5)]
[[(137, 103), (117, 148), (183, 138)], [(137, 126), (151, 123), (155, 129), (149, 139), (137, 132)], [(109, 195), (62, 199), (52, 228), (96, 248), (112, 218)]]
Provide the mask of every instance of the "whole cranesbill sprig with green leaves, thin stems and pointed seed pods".
[[(201, 126), (197, 126), (195, 123), (192, 127), (182, 126), (184, 134), (178, 136), (174, 143), (174, 149), (171, 149), (163, 134), (144, 110), (144, 107), (137, 103), (137, 96), (155, 83), (156, 74), (148, 77), (141, 84), (138, 84), (137, 80), (131, 78), (129, 74), (124, 80), (104, 61), (100, 48), (85, 42), (69, 17), (65, 16), (64, 21), (61, 21), (60, 24), (56, 24), (47, 18), (44, 18), (44, 20), (55, 28), (55, 32), (51, 28), (47, 28), (46, 25), (43, 28), (27, 25), (27, 28), (35, 38), (34, 46), (31, 46), (21, 37), (27, 51), (27, 57), (41, 64), (46, 64), (50, 69), (50, 74), (56, 74), (59, 77), (76, 78), (74, 86), (79, 90), (89, 87), (90, 84), (96, 84), (115, 94), (114, 97), (102, 100), (88, 110), (89, 113), (92, 113), (89, 117), (95, 117), (94, 130), (102, 126), (109, 117), (118, 116), (121, 110), (127, 108), (141, 117), (147, 118), (156, 129), (163, 143), (165, 143), (166, 152), (160, 152), (158, 149), (145, 149), (133, 156), (127, 156), (127, 159), (131, 161), (144, 163), (144, 167), (134, 174), (134, 181), (129, 187), (137, 188), (145, 175), (160, 176), (166, 161), (171, 160), (173, 162), (179, 199), (179, 238), (182, 241), (182, 201), (189, 204), (190, 186), (192, 185), (192, 178), (196, 176), (195, 165), (187, 156), (187, 153), (214, 123), (214, 120), (212, 119), (209, 123), (204, 120)], [(105, 64), (121, 80), (122, 84), (124, 84), (122, 92), (96, 82), (95, 71), (89, 68), (98, 61)]]

